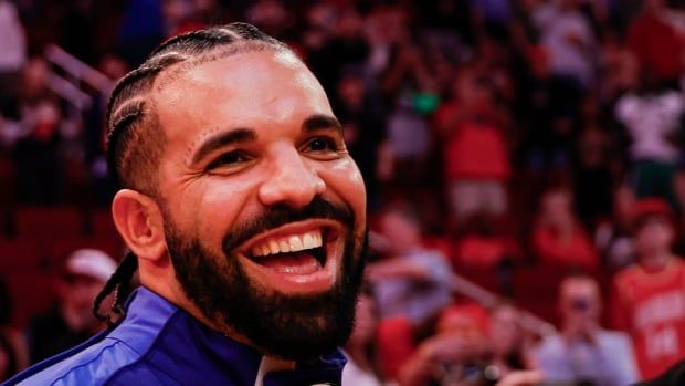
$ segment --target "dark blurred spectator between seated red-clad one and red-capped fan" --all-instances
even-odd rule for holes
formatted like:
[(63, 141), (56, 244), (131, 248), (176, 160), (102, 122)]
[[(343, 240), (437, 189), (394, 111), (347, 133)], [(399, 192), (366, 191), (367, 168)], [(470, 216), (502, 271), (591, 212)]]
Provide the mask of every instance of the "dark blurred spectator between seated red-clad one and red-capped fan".
[(615, 272), (636, 261), (632, 232), (635, 194), (628, 185), (620, 185), (613, 190), (612, 202), (612, 217), (598, 225), (594, 244), (602, 255), (604, 267)]

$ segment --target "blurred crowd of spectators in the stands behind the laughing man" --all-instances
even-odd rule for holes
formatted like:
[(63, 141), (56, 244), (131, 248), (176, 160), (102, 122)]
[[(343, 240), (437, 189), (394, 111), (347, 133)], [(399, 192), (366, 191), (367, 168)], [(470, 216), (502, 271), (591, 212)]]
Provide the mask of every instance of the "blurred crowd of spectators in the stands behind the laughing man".
[[(681, 0), (0, 0), (0, 215), (114, 191), (107, 95), (61, 98), (49, 44), (115, 81), (167, 36), (236, 20), (309, 65), (365, 177), (354, 385), (625, 385), (685, 357)], [(524, 326), (527, 305), (558, 333)], [(4, 314), (0, 377), (38, 359)]]

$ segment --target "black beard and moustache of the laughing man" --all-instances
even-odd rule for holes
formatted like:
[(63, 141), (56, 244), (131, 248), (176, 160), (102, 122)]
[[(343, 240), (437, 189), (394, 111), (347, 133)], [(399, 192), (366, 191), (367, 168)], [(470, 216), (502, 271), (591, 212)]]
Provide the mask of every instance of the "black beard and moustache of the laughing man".
[[(164, 206), (162, 206), (164, 207)], [(250, 340), (257, 350), (303, 361), (333, 352), (349, 337), (363, 271), (366, 234), (355, 238), (349, 208), (316, 198), (302, 210), (272, 208), (236, 226), (223, 240), (223, 253), (208, 250), (199, 237), (182, 234), (165, 210), (165, 231), (176, 278), (186, 295), (210, 321)], [(308, 295), (256, 286), (232, 251), (268, 229), (305, 219), (334, 219), (346, 226), (341, 274), (330, 290)]]

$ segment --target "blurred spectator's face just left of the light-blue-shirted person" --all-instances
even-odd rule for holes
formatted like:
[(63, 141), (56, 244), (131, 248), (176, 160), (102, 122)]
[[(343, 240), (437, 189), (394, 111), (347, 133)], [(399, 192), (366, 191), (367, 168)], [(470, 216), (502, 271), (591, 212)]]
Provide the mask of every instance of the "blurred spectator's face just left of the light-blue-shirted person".
[(504, 356), (518, 350), (521, 342), (519, 314), (510, 305), (502, 305), (491, 313), (489, 336), (495, 355)]

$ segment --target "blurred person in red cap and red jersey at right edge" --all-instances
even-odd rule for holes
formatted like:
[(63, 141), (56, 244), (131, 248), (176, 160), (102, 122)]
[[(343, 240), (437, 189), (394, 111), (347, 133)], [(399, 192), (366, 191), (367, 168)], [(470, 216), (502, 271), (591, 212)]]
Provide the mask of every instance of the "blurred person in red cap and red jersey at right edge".
[(610, 322), (631, 335), (643, 378), (652, 378), (685, 356), (685, 263), (671, 246), (675, 229), (666, 201), (635, 204), (637, 264), (613, 280)]

